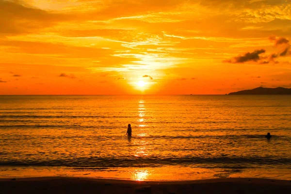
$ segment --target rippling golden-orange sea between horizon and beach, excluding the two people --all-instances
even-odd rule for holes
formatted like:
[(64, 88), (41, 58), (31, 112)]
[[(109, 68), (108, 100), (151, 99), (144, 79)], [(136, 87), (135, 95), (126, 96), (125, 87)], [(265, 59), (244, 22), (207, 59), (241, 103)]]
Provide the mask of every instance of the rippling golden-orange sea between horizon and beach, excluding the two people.
[(291, 96), (0, 96), (0, 178), (42, 176), (291, 180)]

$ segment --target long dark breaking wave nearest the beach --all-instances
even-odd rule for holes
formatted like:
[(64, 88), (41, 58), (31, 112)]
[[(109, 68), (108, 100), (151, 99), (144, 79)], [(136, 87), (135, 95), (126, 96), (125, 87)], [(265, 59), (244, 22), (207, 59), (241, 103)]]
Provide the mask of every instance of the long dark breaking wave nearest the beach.
[(162, 167), (165, 165), (195, 166), (205, 168), (252, 168), (256, 165), (291, 165), (291, 158), (270, 157), (142, 157), (142, 158), (98, 158), (80, 157), (60, 160), (0, 161), (0, 166), (66, 166), (66, 167)]

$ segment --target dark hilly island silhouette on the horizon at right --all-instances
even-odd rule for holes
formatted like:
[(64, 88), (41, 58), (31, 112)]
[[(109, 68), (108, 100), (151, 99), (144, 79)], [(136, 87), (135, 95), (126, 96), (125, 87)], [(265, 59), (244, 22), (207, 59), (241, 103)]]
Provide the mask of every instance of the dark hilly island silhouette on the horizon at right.
[(252, 90), (242, 90), (238, 92), (231, 92), (228, 95), (291, 95), (291, 88), (255, 88)]

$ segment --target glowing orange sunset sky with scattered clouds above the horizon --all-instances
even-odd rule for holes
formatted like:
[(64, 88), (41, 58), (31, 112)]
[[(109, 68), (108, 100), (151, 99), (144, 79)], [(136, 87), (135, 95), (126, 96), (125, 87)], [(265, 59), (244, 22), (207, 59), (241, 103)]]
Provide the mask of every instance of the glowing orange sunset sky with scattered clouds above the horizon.
[(0, 0), (0, 95), (291, 88), (291, 0)]

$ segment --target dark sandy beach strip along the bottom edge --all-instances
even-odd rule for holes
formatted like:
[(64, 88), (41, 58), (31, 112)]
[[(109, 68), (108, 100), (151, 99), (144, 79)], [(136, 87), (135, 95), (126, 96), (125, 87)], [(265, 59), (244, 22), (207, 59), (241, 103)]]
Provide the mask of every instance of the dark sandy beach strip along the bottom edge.
[(0, 179), (0, 194), (291, 194), (290, 180), (216, 178), (132, 181), (98, 178)]

